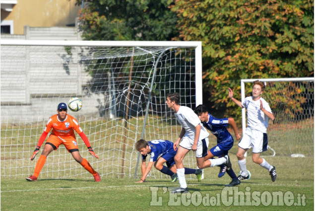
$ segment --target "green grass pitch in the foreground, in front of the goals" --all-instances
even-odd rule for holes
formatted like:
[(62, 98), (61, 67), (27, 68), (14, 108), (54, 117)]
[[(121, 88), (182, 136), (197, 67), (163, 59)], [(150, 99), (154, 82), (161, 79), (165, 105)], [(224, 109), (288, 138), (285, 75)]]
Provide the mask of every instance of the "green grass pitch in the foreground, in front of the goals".
[[(231, 157), (234, 169), (237, 171), (239, 167), (236, 157), (234, 154), (231, 154)], [(179, 183), (178, 181), (171, 183), (169, 179), (147, 178), (146, 183), (135, 183), (138, 179), (113, 178), (102, 178), (99, 183), (85, 178), (39, 179), (37, 182), (27, 182), (25, 179), (1, 179), (1, 210), (313, 211), (314, 157), (275, 156), (265, 159), (276, 166), (278, 178), (274, 183), (267, 170), (254, 164), (248, 157), (247, 166), (252, 173), (251, 179), (242, 182), (238, 190), (229, 189), (232, 192), (228, 192), (228, 195), (224, 194), (223, 190), (226, 190), (224, 185), (230, 182), (230, 178), (227, 174), (218, 178), (218, 167), (205, 169), (205, 178), (200, 183), (197, 179), (187, 179), (189, 194), (182, 195), (170, 194), (169, 190), (178, 187)], [(240, 200), (238, 195), (242, 193), (250, 196), (246, 198), (249, 201)], [(257, 195), (258, 193), (260, 196)], [(282, 196), (273, 199), (274, 193)], [(228, 199), (232, 201), (224, 200), (224, 196), (230, 197)], [(255, 196), (259, 196), (259, 200)], [(247, 204), (240, 206), (238, 201)], [(248, 203), (252, 203), (252, 206)], [(297, 206), (294, 206), (294, 203), (298, 203)], [(277, 204), (280, 206), (276, 206)]]

